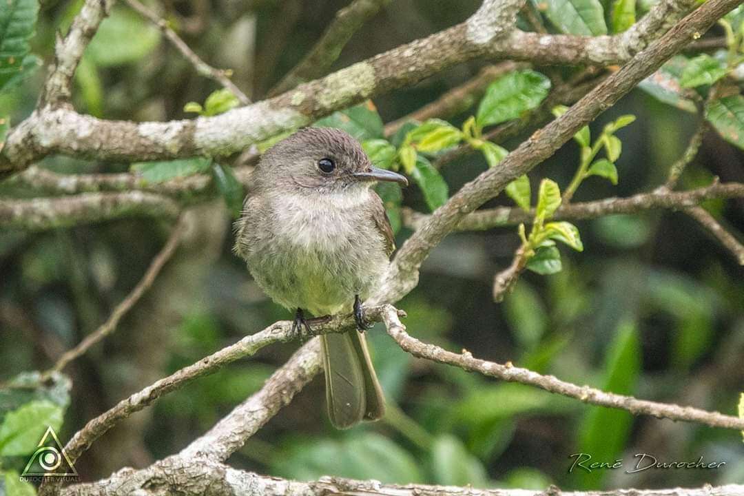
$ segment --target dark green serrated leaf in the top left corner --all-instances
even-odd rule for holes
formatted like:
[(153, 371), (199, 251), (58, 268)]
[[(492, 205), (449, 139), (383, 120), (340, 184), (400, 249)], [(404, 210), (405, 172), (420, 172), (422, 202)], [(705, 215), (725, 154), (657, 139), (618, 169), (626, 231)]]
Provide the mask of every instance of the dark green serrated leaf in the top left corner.
[(39, 59), (28, 54), (38, 13), (36, 0), (0, 1), (0, 91), (38, 67)]

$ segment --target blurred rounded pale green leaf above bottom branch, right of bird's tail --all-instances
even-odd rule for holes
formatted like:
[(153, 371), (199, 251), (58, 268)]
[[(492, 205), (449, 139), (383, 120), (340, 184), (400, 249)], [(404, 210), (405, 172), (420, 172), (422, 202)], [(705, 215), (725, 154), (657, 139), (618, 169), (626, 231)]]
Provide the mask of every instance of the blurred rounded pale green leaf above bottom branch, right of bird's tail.
[(462, 441), (451, 434), (434, 439), (432, 445), (432, 475), (434, 484), (442, 486), (480, 487), (487, 483), (486, 469), (481, 460), (470, 454)]

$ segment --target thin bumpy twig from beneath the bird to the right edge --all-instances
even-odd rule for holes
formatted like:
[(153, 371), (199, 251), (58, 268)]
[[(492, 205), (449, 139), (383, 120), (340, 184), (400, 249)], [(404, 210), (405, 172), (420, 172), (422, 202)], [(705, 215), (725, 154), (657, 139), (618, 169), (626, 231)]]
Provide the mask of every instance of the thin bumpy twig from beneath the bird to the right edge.
[(698, 408), (682, 407), (679, 405), (650, 402), (643, 399), (635, 399), (632, 396), (623, 396), (615, 393), (607, 393), (589, 386), (578, 386), (570, 382), (561, 381), (554, 376), (542, 376), (532, 370), (514, 367), (511, 362), (497, 364), (474, 358), (470, 352), (454, 353), (434, 344), (423, 343), (411, 337), (405, 332), (405, 326), (398, 318), (398, 312), (393, 306), (385, 306), (382, 312), (382, 321), (388, 329), (388, 334), (403, 348), (418, 358), (436, 361), (440, 364), (460, 367), (468, 372), (478, 372), (484, 376), (495, 377), (502, 381), (519, 382), (539, 387), (550, 393), (568, 396), (578, 399), (590, 405), (598, 405), (607, 408), (618, 408), (626, 410), (634, 415), (651, 415), (659, 419), (681, 420), (684, 422), (697, 422), (710, 427), (726, 429), (744, 429), (744, 419), (719, 412), (710, 412)]

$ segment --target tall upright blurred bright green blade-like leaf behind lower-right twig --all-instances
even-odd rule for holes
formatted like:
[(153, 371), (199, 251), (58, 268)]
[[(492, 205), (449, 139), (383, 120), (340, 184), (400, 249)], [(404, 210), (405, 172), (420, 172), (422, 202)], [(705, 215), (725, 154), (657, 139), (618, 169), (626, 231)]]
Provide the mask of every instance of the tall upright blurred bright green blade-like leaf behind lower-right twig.
[[(635, 390), (641, 371), (641, 344), (633, 323), (620, 323), (618, 332), (607, 350), (604, 364), (604, 391), (629, 395)], [(578, 448), (576, 451), (589, 453), (594, 460), (612, 461), (620, 456), (625, 448), (632, 425), (632, 415), (624, 410), (589, 407), (580, 423)], [(608, 474), (606, 470), (575, 472), (584, 488), (601, 486), (601, 479)]]

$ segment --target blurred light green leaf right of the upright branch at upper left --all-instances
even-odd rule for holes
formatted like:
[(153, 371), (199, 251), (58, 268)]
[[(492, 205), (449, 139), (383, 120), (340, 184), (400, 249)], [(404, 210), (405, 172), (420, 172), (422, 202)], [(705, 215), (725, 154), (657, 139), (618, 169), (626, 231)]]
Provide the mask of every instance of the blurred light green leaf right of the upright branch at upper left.
[(160, 42), (160, 30), (133, 10), (114, 7), (86, 48), (95, 65), (113, 67), (147, 57)]

